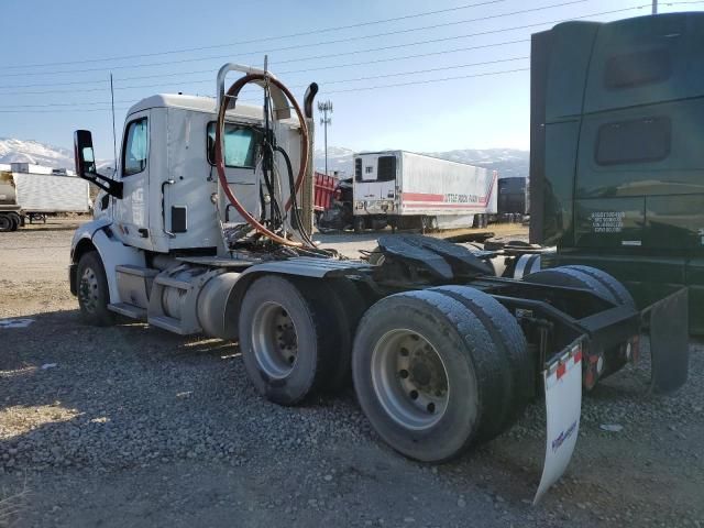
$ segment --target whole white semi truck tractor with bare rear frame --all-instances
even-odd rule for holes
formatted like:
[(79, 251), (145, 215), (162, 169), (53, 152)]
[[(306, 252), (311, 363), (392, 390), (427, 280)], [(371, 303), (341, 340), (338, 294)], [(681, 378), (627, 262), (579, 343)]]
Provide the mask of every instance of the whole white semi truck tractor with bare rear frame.
[[(232, 70), (244, 76), (226, 91)], [(263, 87), (261, 107), (238, 101), (249, 84)], [(574, 449), (582, 387), (637, 358), (640, 314), (593, 268), (501, 278), (492, 252), (409, 234), (381, 237), (367, 261), (319, 249), (300, 207), (316, 91), (301, 110), (271, 73), (228, 64), (217, 100), (144, 99), (111, 178), (77, 131), (79, 175), (102, 189), (72, 243), (82, 317), (235, 340), (252, 384), (280, 405), (352, 381), (381, 438), (426, 462), (495, 438), (544, 393), (540, 496)]]

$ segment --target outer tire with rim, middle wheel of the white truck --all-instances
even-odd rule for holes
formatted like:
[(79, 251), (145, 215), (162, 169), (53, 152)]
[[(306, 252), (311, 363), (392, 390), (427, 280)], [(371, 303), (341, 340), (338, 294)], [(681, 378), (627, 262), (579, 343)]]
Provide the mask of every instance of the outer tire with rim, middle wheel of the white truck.
[(296, 405), (318, 388), (329, 372), (334, 322), (287, 278), (264, 276), (244, 294), (240, 351), (248, 376), (268, 400)]

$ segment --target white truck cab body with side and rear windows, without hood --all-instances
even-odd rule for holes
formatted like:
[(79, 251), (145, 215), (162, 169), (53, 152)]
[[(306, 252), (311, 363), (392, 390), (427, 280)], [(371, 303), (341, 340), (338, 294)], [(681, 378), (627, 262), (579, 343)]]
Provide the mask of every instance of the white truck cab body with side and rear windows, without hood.
[[(277, 123), (279, 142), (288, 147), (295, 120)], [(228, 183), (248, 210), (262, 213), (258, 188), (261, 107), (238, 105), (224, 130)], [(156, 253), (226, 251), (221, 224), (244, 222), (219, 193), (215, 168), (216, 100), (184, 95), (156, 95), (128, 112), (114, 182), (122, 197), (107, 191), (98, 213), (113, 222), (125, 244)], [(293, 163), (298, 160), (292, 153)]]

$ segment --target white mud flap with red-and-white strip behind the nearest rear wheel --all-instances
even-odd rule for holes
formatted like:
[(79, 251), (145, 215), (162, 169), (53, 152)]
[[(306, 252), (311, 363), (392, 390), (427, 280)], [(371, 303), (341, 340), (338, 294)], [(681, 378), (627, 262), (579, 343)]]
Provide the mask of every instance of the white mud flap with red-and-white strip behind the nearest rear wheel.
[(548, 365), (542, 378), (548, 433), (542, 477), (532, 504), (558, 482), (574, 452), (582, 414), (582, 338)]

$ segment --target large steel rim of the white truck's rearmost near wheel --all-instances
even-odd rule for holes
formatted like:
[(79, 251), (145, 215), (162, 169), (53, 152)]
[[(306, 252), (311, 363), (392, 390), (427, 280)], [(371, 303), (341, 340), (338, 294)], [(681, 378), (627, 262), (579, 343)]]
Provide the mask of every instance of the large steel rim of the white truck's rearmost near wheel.
[(448, 409), (450, 384), (442, 358), (418, 332), (386, 332), (372, 352), (372, 384), (386, 414), (406, 429), (437, 425)]

